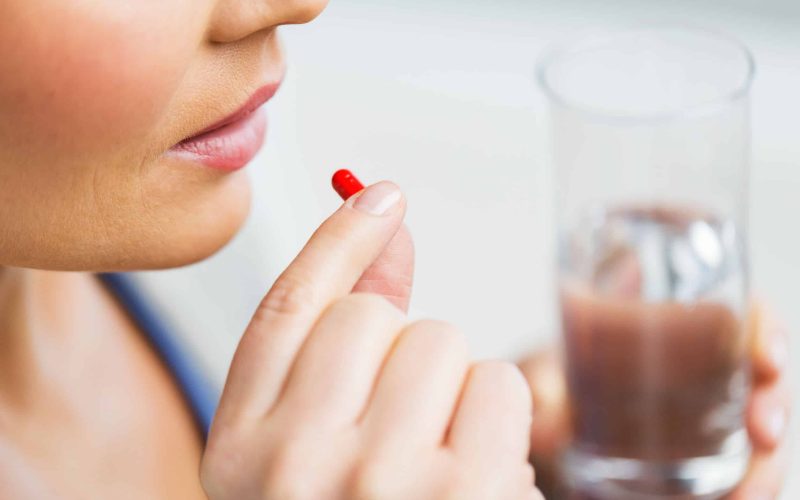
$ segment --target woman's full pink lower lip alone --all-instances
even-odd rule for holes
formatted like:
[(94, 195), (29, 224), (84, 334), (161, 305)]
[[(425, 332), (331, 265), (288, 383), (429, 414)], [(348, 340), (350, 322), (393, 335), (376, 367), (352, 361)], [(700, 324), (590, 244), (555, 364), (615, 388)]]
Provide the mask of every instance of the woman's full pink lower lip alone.
[(169, 154), (205, 166), (235, 171), (255, 157), (264, 144), (267, 115), (263, 108), (224, 127), (191, 137), (170, 148)]

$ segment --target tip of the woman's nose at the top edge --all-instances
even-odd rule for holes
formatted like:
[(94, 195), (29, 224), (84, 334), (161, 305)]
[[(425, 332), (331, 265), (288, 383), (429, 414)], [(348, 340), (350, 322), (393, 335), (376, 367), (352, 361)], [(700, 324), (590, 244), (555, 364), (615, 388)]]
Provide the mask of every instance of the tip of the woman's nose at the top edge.
[(227, 43), (282, 24), (303, 24), (317, 17), (328, 0), (217, 0), (208, 37)]

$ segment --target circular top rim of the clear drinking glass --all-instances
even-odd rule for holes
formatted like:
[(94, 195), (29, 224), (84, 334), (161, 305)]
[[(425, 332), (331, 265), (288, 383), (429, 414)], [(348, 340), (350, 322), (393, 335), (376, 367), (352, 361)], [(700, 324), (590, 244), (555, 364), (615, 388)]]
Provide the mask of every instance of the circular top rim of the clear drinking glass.
[[(730, 44), (731, 47), (735, 48), (739, 54), (743, 56), (746, 66), (741, 83), (733, 86), (729, 91), (720, 93), (719, 97), (715, 97), (714, 99), (706, 102), (687, 104), (677, 109), (667, 111), (622, 113), (600, 110), (591, 106), (576, 103), (574, 100), (564, 97), (558, 92), (558, 90), (553, 88), (548, 81), (548, 69), (553, 63), (564, 57), (579, 53), (583, 50), (591, 49), (593, 47), (599, 47), (605, 42), (620, 39), (624, 36), (634, 33), (648, 33), (656, 31), (693, 33), (696, 35), (714, 38), (717, 41), (723, 41)], [(750, 88), (752, 87), (755, 74), (755, 58), (753, 57), (753, 54), (747, 45), (745, 45), (741, 40), (724, 31), (717, 31), (714, 29), (685, 23), (644, 24), (615, 31), (606, 31), (601, 35), (580, 38), (578, 41), (574, 42), (555, 44), (554, 46), (545, 49), (536, 63), (536, 80), (539, 84), (539, 88), (544, 92), (551, 103), (600, 120), (622, 123), (671, 121), (713, 114), (714, 112), (723, 109), (728, 104), (733, 103), (742, 97), (746, 97), (749, 94)]]

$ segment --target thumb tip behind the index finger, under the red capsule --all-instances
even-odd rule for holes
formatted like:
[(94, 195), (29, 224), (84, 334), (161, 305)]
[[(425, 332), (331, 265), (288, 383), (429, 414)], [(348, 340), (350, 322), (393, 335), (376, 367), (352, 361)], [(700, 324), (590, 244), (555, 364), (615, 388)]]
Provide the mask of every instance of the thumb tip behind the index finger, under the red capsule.
[(414, 241), (403, 225), (383, 252), (361, 275), (354, 292), (383, 295), (400, 310), (407, 312), (414, 282)]

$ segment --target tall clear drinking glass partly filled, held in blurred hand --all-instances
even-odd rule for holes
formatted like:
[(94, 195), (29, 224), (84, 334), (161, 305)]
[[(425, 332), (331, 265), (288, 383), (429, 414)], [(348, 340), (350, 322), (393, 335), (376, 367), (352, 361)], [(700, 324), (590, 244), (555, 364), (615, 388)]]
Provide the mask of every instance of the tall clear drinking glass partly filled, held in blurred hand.
[(719, 498), (746, 470), (753, 73), (681, 26), (540, 63), (579, 498)]

